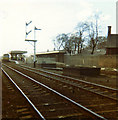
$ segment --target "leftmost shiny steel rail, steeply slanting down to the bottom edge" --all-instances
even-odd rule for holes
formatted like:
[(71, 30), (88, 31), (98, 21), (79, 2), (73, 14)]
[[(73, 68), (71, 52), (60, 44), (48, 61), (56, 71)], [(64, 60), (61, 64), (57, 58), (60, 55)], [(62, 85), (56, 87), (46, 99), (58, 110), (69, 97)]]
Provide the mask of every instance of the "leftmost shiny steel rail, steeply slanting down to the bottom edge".
[(26, 100), (30, 103), (30, 105), (34, 108), (34, 110), (38, 113), (38, 115), (43, 119), (46, 120), (44, 118), (44, 116), (40, 113), (40, 111), (36, 108), (36, 106), (32, 103), (32, 101), (27, 97), (27, 95), (25, 95), (25, 93), (20, 89), (20, 87), (12, 80), (12, 78), (7, 74), (7, 72), (1, 68), (2, 71), (5, 73), (5, 75), (10, 79), (10, 81), (15, 85), (15, 87), (21, 92), (21, 94), (26, 98)]

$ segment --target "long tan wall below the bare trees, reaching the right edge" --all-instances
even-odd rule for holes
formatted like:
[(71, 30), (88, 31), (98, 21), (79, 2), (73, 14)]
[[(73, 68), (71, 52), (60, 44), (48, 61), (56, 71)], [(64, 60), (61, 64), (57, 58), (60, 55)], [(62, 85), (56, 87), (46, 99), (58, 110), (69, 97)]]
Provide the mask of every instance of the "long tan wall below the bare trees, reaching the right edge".
[(67, 65), (75, 66), (86, 66), (86, 67), (106, 67), (106, 68), (117, 68), (118, 55), (74, 55), (64, 56), (64, 63)]

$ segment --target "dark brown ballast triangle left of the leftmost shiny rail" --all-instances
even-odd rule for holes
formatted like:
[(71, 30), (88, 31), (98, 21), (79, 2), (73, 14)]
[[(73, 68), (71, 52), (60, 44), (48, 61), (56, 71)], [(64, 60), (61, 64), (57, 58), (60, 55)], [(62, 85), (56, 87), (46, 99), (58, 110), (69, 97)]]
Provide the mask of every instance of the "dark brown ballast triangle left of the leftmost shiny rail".
[(33, 119), (38, 114), (27, 103), (18, 89), (12, 84), (6, 74), (2, 74), (2, 118), (1, 119)]

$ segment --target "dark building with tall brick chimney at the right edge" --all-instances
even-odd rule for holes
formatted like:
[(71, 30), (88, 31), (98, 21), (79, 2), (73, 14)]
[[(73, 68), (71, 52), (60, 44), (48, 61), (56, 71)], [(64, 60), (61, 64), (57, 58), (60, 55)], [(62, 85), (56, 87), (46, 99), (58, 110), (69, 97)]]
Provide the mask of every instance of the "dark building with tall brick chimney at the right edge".
[(111, 26), (108, 26), (106, 55), (118, 54), (118, 34), (111, 34)]

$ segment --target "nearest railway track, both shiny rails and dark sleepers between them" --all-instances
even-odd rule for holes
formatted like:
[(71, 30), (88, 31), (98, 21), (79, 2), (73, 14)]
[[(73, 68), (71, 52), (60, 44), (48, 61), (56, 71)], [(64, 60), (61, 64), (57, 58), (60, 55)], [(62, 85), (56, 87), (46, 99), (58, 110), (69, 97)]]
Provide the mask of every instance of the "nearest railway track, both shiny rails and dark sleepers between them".
[(32, 105), (41, 119), (105, 120), (104, 117), (11, 67), (4, 67), (2, 71)]

